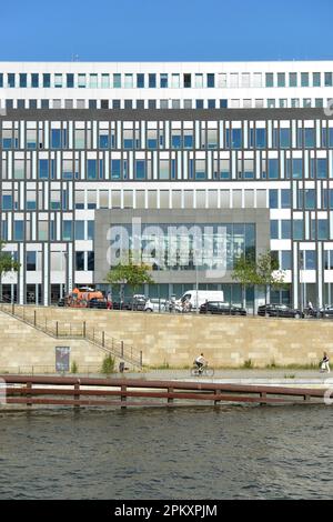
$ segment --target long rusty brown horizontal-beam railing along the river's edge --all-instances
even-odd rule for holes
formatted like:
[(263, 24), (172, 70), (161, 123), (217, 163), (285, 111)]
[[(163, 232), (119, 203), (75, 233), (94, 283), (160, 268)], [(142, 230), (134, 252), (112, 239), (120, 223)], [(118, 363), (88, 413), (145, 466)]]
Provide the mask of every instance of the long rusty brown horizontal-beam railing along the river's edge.
[(204, 382), (0, 375), (7, 405), (171, 406), (324, 403), (326, 390)]

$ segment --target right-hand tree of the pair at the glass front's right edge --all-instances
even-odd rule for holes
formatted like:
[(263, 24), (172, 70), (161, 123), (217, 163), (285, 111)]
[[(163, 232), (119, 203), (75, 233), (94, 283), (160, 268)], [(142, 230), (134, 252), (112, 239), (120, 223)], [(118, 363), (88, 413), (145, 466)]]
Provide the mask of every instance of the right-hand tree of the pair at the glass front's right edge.
[(284, 282), (285, 273), (280, 270), (279, 260), (274, 252), (268, 250), (259, 254), (256, 260), (256, 284), (265, 289), (265, 304), (268, 304), (268, 291), (271, 294), (271, 289), (285, 288)]

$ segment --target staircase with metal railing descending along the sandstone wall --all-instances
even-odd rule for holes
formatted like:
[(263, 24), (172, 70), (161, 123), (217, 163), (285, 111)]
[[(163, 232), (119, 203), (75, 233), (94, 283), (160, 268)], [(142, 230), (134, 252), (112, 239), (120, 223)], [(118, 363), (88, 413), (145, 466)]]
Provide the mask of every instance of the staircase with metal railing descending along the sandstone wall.
[(18, 307), (16, 303), (6, 301), (0, 302), (0, 311), (51, 338), (83, 339), (104, 352), (110, 353), (112, 357), (122, 359), (134, 368), (142, 369), (142, 351), (140, 353), (135, 352), (133, 347), (129, 347), (123, 341), (107, 335), (104, 331), (88, 327), (85, 321), (69, 323), (57, 320), (41, 320), (38, 318), (37, 310), (31, 309), (29, 305)]

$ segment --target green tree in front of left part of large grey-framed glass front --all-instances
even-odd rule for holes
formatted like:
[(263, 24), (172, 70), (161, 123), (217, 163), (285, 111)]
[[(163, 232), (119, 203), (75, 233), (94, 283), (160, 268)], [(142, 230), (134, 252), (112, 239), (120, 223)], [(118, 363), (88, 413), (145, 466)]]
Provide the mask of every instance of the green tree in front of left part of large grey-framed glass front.
[(112, 285), (120, 288), (120, 299), (123, 301), (124, 285), (128, 284), (135, 290), (141, 284), (153, 284), (154, 281), (150, 275), (150, 267), (145, 263), (133, 263), (129, 260), (128, 264), (119, 263), (112, 268), (108, 273), (105, 281)]

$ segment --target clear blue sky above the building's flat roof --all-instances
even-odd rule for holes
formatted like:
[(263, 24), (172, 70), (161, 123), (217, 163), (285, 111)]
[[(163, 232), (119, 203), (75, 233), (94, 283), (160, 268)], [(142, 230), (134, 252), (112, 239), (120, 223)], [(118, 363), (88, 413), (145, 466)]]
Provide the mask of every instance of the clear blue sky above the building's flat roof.
[(332, 0), (17, 0), (0, 60), (333, 59), (332, 14)]

